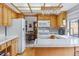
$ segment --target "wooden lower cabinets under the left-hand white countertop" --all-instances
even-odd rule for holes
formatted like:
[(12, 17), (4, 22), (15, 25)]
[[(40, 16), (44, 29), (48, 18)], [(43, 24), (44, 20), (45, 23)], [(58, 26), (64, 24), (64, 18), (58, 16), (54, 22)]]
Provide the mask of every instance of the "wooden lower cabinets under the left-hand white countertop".
[(17, 40), (18, 38), (12, 39), (6, 43), (0, 45), (1, 56), (16, 56), (17, 55)]

